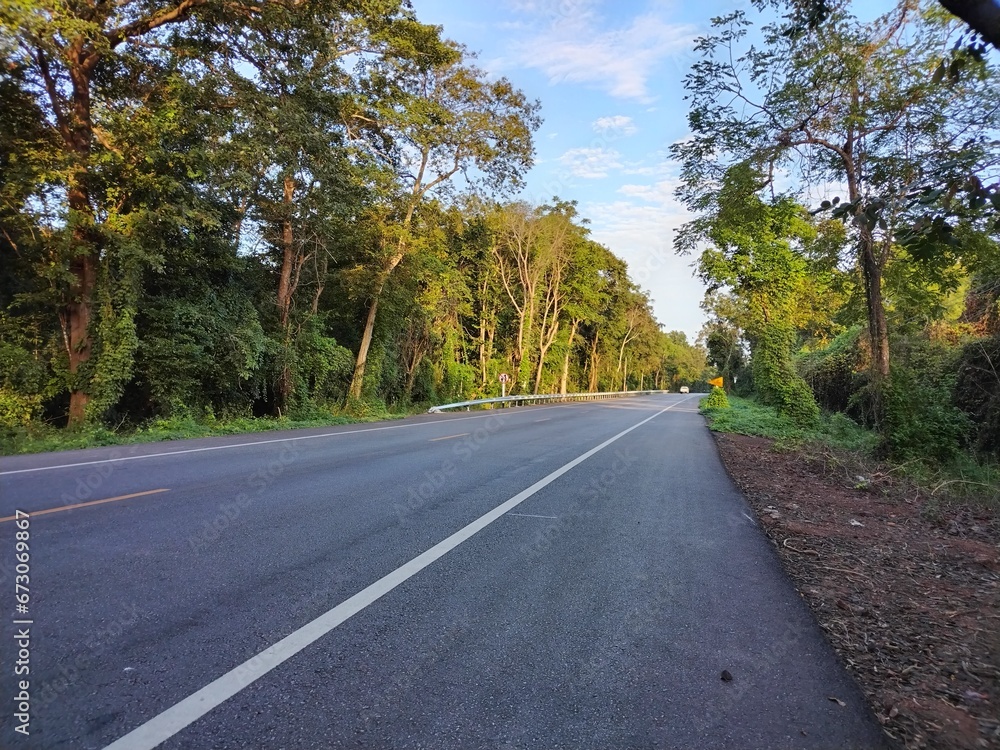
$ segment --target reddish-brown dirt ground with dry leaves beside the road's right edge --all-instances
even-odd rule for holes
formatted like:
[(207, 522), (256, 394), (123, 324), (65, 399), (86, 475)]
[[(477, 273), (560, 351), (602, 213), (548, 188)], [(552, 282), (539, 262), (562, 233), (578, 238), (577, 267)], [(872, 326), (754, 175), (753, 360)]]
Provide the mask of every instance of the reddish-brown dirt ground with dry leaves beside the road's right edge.
[(1000, 748), (1000, 517), (825, 450), (716, 442), (886, 734)]

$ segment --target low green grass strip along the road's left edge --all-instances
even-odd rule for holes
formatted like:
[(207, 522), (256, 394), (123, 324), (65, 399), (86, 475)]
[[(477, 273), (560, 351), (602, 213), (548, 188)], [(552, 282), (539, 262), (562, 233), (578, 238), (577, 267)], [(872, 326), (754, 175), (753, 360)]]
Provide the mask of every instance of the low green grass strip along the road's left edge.
[(304, 427), (330, 427), (333, 425), (375, 422), (383, 419), (401, 419), (423, 409), (389, 411), (374, 402), (354, 403), (342, 410), (312, 410), (296, 417), (214, 417), (195, 418), (181, 416), (155, 419), (133, 430), (112, 430), (103, 425), (87, 425), (78, 430), (58, 429), (48, 425), (32, 424), (16, 430), (0, 430), (0, 455), (24, 453), (50, 453), (53, 451), (97, 448), (105, 445), (132, 445), (156, 443), (166, 440), (242, 435), (272, 430), (294, 430)]

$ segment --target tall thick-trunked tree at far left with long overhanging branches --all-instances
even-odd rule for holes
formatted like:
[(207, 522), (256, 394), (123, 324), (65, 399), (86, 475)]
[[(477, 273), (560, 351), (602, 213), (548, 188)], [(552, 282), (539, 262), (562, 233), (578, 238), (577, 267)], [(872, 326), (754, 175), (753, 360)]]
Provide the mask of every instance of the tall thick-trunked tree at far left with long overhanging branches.
[[(114, 387), (109, 378), (127, 379), (125, 360), (129, 357), (121, 347), (131, 338), (126, 329), (133, 325), (129, 320), (134, 314), (119, 309), (124, 302), (119, 299), (120, 291), (102, 291), (100, 285), (122, 286), (116, 274), (127, 270), (134, 276), (141, 271), (142, 243), (135, 241), (138, 234), (132, 230), (142, 224), (144, 215), (152, 215), (155, 209), (175, 216), (184, 213), (168, 208), (165, 196), (160, 198), (161, 206), (128, 200), (135, 186), (121, 182), (128, 171), (123, 167), (134, 167), (144, 177), (165, 176), (141, 168), (156, 161), (147, 158), (149, 154), (122, 148), (130, 142), (132, 131), (143, 132), (134, 127), (137, 122), (157, 113), (160, 119), (155, 125), (160, 133), (170, 124), (181, 127), (178, 115), (185, 107), (177, 106), (180, 101), (171, 92), (187, 87), (208, 94), (221, 82), (237, 78), (236, 68), (254, 55), (263, 55), (257, 58), (258, 69), (269, 65), (280, 69), (288, 62), (276, 54), (282, 44), (296, 47), (301, 55), (296, 60), (315, 62), (311, 52), (322, 56), (329, 51), (322, 47), (329, 35), (321, 30), (381, 29), (384, 19), (398, 16), (401, 7), (391, 0), (358, 6), (339, 2), (289, 5), (277, 0), (224, 5), (208, 0), (69, 5), (39, 0), (3, 6), (0, 24), (15, 40), (3, 50), (5, 65), (23, 71), (23, 91), (41, 112), (41, 123), (51, 133), (60, 157), (60, 173), (53, 181), (63, 188), (63, 205), (50, 226), (60, 228), (58, 241), (51, 246), (58, 248), (56, 266), (65, 269), (56, 291), (71, 423), (85, 418), (92, 390), (110, 388), (111, 393)], [(263, 45), (252, 43), (260, 39), (265, 40)], [(364, 51), (351, 46), (343, 54)], [(285, 72), (289, 72), (287, 67)], [(150, 106), (157, 97), (164, 106)], [(166, 106), (168, 100), (171, 106)], [(232, 101), (219, 99), (215, 109), (231, 106)], [(152, 140), (144, 145), (155, 149), (157, 143)], [(180, 154), (174, 157), (173, 163), (183, 161)], [(196, 180), (197, 173), (189, 172), (182, 182)], [(148, 187), (146, 192), (151, 194)], [(195, 220), (191, 229), (198, 231), (199, 224)], [(128, 258), (122, 253), (123, 245), (131, 248)], [(145, 262), (155, 265), (155, 258)], [(120, 360), (118, 365), (89, 364), (96, 351), (94, 325), (103, 331), (99, 353)], [(107, 401), (102, 398), (105, 405)]]

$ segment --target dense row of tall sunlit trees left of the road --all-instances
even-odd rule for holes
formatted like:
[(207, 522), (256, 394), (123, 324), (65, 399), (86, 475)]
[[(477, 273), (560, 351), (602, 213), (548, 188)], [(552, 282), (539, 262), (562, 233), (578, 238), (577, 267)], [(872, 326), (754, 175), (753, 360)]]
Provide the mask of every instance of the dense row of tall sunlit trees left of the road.
[(0, 429), (673, 387), (539, 105), (400, 0), (0, 10)]

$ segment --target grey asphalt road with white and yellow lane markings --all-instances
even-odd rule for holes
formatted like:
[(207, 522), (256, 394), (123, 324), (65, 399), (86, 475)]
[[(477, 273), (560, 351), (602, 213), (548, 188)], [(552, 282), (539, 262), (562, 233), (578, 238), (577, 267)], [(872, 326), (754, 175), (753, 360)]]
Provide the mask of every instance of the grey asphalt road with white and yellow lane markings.
[(697, 399), (0, 459), (0, 747), (882, 747)]

